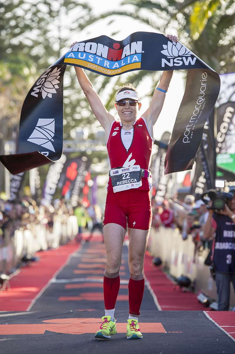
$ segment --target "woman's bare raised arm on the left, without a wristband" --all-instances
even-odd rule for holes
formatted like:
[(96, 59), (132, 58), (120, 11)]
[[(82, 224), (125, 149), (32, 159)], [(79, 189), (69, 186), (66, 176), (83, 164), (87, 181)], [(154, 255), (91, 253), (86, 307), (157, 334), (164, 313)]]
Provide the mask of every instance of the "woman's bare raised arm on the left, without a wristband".
[[(72, 48), (77, 42), (74, 42), (70, 48)], [(101, 102), (100, 97), (98, 96), (97, 92), (94, 90), (91, 81), (88, 79), (88, 76), (84, 72), (82, 68), (74, 67), (79, 85), (81, 86), (83, 92), (85, 93), (86, 98), (90, 104), (92, 112), (102, 125), (105, 131), (109, 131), (110, 125), (114, 120), (114, 116), (110, 114), (107, 109), (104, 107), (103, 103)]]

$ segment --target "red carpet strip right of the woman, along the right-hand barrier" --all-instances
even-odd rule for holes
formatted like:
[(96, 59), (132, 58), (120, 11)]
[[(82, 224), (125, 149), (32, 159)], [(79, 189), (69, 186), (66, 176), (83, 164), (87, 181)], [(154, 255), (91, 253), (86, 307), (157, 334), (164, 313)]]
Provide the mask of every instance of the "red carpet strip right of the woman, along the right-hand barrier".
[(162, 310), (205, 310), (196, 295), (182, 292), (164, 274), (160, 267), (152, 264), (152, 256), (147, 251), (144, 261), (144, 273), (150, 282)]

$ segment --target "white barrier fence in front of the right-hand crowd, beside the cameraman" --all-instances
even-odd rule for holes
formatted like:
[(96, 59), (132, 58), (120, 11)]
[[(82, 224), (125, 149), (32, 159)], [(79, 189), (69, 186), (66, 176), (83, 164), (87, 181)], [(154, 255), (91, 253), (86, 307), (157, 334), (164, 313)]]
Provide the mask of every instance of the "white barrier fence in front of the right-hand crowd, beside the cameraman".
[[(192, 236), (187, 240), (182, 239), (178, 229), (160, 227), (150, 232), (150, 252), (153, 257), (160, 257), (163, 266), (169, 269), (170, 275), (175, 278), (186, 275), (194, 282), (195, 290), (203, 292), (212, 299), (217, 299), (216, 284), (210, 275), (210, 269), (204, 264), (208, 250), (195, 255)], [(235, 306), (235, 293), (233, 287), (230, 290), (230, 306)]]

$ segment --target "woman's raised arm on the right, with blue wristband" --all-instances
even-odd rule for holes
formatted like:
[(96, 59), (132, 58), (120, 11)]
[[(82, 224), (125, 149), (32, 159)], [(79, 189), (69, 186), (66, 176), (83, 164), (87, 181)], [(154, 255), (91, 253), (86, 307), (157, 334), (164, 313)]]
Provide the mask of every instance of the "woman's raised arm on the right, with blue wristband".
[[(176, 36), (167, 35), (167, 38), (173, 42), (177, 42), (178, 38)], [(146, 112), (142, 115), (143, 118), (146, 120), (148, 126), (154, 125), (158, 119), (159, 114), (161, 113), (163, 103), (165, 100), (165, 92), (168, 90), (170, 85), (170, 80), (172, 78), (174, 70), (167, 70), (162, 73), (158, 89), (155, 90), (152, 101), (150, 103), (149, 108)], [(163, 91), (161, 91), (163, 90)]]

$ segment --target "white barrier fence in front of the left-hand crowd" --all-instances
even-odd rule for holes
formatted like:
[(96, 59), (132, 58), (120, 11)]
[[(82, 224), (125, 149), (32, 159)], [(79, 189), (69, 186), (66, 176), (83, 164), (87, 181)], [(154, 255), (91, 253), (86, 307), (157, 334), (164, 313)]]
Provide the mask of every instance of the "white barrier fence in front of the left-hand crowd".
[(26, 230), (19, 228), (14, 236), (10, 236), (6, 230), (0, 244), (0, 273), (11, 273), (23, 256), (59, 247), (77, 234), (78, 223), (74, 215), (62, 221), (57, 218), (52, 230), (46, 224), (30, 224)]

